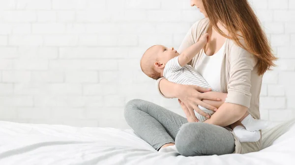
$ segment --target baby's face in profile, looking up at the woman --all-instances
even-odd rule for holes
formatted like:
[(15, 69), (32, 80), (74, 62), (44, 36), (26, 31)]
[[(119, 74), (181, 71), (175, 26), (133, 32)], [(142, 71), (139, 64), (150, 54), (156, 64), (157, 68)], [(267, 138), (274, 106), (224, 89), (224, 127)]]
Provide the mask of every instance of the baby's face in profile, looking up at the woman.
[(157, 62), (166, 64), (169, 60), (178, 56), (179, 53), (173, 48), (167, 48), (162, 45), (158, 45), (157, 47)]

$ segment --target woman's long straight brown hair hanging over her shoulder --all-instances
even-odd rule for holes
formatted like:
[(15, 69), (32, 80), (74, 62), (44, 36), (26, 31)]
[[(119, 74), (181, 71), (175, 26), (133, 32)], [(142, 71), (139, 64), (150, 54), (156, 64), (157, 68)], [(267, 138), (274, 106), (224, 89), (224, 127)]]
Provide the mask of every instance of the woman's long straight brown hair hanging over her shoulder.
[[(247, 0), (203, 0), (203, 3), (210, 25), (219, 34), (234, 40), (238, 46), (257, 56), (259, 75), (275, 66), (274, 61), (277, 58), (273, 55), (266, 34)], [(225, 26), (229, 36), (220, 30), (218, 22)]]

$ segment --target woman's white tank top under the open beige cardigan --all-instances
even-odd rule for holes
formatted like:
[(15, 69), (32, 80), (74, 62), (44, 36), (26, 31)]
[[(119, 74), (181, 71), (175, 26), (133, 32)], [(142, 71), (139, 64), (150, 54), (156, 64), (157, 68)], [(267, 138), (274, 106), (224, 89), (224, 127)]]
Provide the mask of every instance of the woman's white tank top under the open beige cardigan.
[(222, 58), (224, 55), (225, 44), (212, 56), (207, 56), (205, 52), (202, 54), (200, 65), (195, 69), (205, 78), (212, 90), (220, 92), (220, 70)]

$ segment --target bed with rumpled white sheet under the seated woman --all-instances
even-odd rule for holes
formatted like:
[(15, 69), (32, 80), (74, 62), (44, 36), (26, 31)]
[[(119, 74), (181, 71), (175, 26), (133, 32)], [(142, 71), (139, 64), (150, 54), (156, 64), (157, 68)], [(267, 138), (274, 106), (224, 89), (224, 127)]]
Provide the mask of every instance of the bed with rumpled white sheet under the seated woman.
[(260, 152), (184, 157), (158, 153), (132, 130), (0, 121), (0, 165), (295, 165), (295, 126), (278, 127), (284, 134), (273, 141), (280, 133), (267, 131)]

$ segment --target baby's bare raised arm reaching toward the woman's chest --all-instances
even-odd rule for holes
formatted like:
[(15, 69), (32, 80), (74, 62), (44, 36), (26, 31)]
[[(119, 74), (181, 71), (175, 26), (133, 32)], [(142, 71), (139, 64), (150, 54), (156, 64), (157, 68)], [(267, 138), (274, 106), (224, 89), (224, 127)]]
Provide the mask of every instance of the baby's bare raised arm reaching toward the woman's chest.
[(194, 45), (186, 48), (179, 56), (178, 63), (181, 67), (189, 63), (198, 52), (206, 45), (208, 41), (208, 33), (204, 34), (200, 40)]

